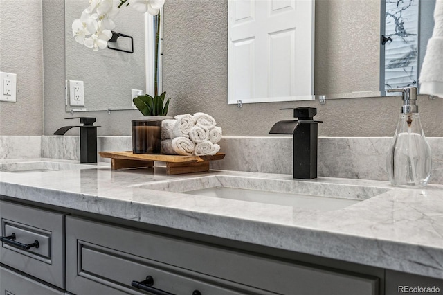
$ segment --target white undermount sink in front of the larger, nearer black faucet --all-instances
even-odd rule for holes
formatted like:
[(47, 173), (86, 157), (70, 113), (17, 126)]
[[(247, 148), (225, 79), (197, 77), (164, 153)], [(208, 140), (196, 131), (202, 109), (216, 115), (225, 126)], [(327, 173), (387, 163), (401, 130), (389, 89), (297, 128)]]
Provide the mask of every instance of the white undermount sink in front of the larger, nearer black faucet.
[(325, 211), (345, 208), (389, 190), (375, 186), (227, 175), (157, 181), (138, 188)]

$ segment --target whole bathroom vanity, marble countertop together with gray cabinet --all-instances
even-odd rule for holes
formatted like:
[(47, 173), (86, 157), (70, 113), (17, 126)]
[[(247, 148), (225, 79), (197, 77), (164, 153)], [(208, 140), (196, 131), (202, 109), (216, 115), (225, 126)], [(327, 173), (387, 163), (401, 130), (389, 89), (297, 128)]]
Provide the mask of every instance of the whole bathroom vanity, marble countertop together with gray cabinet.
[[(1, 235), (39, 242), (27, 250), (3, 240), (2, 294), (443, 292), (439, 185), (57, 165), (0, 172)], [(320, 208), (196, 193), (216, 187), (352, 202)]]

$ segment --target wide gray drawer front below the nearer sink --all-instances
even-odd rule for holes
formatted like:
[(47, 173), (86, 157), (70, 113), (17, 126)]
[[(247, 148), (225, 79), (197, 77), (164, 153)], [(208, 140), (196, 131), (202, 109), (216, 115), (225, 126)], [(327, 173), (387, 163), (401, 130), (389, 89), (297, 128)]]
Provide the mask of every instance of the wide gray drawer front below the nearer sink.
[(66, 217), (66, 267), (67, 289), (75, 294), (139, 294), (131, 284), (147, 276), (151, 287), (171, 294), (379, 294), (373, 276), (72, 215)]

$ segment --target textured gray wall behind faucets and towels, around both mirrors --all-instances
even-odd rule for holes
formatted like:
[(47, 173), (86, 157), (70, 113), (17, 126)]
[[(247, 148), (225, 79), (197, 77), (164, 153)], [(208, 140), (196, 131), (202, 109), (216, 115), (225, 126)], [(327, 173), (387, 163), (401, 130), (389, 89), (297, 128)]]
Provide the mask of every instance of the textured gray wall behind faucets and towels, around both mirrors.
[[(4, 0), (2, 0), (4, 1)], [(319, 0), (322, 1), (322, 0)], [(371, 0), (377, 1), (379, 0)], [(59, 0), (43, 0), (44, 13), (53, 14)], [(226, 136), (267, 136), (273, 123), (291, 118), (281, 107), (317, 107), (321, 136), (392, 136), (397, 125), (401, 100), (356, 98), (318, 101), (267, 102), (227, 105), (227, 0), (167, 0), (164, 7), (164, 89), (170, 115), (204, 111), (214, 116)], [(56, 17), (60, 17), (57, 15)], [(63, 21), (60, 23), (63, 24)], [(55, 21), (44, 21), (47, 30), (63, 35)], [(58, 32), (58, 33), (54, 33)], [(53, 35), (52, 35), (53, 36)], [(45, 37), (45, 134), (66, 125), (64, 113), (63, 40)], [(57, 52), (55, 52), (57, 48)], [(50, 57), (50, 58), (49, 58)], [(378, 58), (378, 57), (377, 57)], [(377, 60), (377, 58), (375, 60)], [(359, 61), (353, 60), (354, 64)], [(330, 73), (334, 75), (335, 72)], [(419, 97), (419, 109), (426, 136), (443, 136), (443, 99)], [(138, 111), (88, 112), (96, 116), (100, 135), (130, 135), (130, 121)], [(72, 134), (78, 134), (73, 132)]]

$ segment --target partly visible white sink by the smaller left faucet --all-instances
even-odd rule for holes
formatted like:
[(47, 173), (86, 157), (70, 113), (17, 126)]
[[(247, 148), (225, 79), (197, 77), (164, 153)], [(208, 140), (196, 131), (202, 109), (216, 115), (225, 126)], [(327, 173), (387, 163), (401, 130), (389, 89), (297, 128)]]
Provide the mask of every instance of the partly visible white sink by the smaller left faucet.
[(46, 172), (46, 171), (91, 169), (91, 168), (97, 168), (97, 166), (79, 164), (79, 163), (54, 162), (54, 161), (25, 161), (25, 162), (0, 163), (0, 172), (14, 172), (14, 173)]

